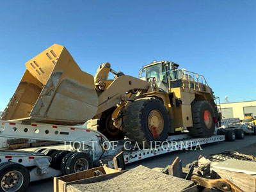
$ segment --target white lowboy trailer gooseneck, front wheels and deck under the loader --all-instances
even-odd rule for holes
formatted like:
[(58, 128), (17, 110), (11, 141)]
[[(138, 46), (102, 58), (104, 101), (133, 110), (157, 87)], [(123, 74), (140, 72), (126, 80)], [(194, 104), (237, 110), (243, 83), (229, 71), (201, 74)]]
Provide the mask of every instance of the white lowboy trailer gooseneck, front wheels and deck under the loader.
[[(11, 121), (0, 121), (0, 136), (62, 141), (71, 144), (69, 150), (47, 148), (38, 148), (33, 152), (1, 150), (0, 191), (8, 192), (25, 191), (29, 182), (88, 170), (99, 162), (113, 167), (113, 157), (120, 151), (123, 151), (125, 164), (128, 164), (177, 150), (191, 150), (207, 143), (225, 141), (224, 135), (191, 138), (188, 134), (180, 134), (169, 136), (158, 147), (140, 149), (129, 140), (109, 142), (100, 132), (84, 127)], [(83, 146), (77, 147), (78, 144)]]

